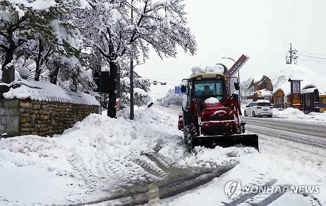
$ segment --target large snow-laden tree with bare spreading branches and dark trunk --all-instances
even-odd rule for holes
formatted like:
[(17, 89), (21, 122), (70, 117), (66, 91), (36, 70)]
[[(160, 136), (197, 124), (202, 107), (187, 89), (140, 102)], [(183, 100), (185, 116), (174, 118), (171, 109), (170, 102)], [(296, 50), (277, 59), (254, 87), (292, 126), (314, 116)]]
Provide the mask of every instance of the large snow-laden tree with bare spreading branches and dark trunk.
[(76, 24), (83, 28), (88, 46), (109, 63), (110, 117), (115, 117), (117, 74), (123, 58), (146, 60), (150, 48), (161, 57), (176, 57), (178, 45), (191, 54), (196, 51), (185, 17), (185, 0), (87, 1), (89, 6), (79, 12)]

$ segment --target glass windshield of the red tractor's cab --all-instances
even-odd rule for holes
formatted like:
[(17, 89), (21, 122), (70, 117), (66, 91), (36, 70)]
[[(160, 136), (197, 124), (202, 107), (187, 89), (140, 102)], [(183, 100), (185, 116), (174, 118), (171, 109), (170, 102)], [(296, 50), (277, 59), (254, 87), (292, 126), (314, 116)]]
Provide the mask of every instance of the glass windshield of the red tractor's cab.
[(201, 80), (195, 82), (195, 96), (214, 96), (222, 99), (222, 80)]

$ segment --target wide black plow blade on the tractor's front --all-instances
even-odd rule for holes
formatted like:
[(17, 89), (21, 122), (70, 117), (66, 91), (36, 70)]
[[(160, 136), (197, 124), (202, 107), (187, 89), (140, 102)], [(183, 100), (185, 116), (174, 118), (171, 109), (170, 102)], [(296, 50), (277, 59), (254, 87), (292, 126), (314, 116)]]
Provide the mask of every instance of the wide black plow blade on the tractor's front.
[(192, 140), (193, 146), (204, 146), (207, 148), (222, 148), (243, 145), (253, 147), (259, 152), (258, 134), (238, 134), (238, 135), (218, 135), (218, 136), (202, 136)]

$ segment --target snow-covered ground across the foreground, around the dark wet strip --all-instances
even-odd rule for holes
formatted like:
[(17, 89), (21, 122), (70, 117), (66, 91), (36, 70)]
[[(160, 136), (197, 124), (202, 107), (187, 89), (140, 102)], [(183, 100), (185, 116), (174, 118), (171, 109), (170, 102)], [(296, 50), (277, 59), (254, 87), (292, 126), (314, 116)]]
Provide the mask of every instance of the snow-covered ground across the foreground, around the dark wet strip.
[[(236, 166), (156, 205), (222, 206), (222, 202), (232, 202), (224, 194), (230, 180), (240, 180), (242, 185), (318, 185), (319, 194), (285, 193), (271, 205), (326, 205), (324, 148), (302, 150), (300, 143), (261, 135), (261, 153), (253, 148), (197, 147), (189, 154), (182, 145), (177, 119), (176, 108), (153, 106), (135, 110), (133, 121), (128, 119), (128, 110), (119, 112), (117, 119), (92, 114), (54, 138), (1, 139), (0, 205), (69, 205), (106, 199), (123, 186), (164, 179), (173, 173), (169, 165), (185, 171), (184, 175), (194, 168)], [(163, 161), (144, 155), (151, 153)], [(164, 162), (169, 165), (162, 166)], [(240, 205), (264, 205), (264, 200), (266, 205), (269, 196), (248, 196)]]

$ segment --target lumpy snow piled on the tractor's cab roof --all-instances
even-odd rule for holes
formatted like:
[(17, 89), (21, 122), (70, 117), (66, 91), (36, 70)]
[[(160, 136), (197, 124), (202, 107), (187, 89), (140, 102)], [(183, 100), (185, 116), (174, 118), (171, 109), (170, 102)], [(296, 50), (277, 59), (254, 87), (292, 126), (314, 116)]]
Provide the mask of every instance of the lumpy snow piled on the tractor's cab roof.
[(202, 78), (212, 78), (216, 77), (216, 75), (223, 75), (224, 68), (225, 67), (221, 64), (194, 66), (191, 68), (191, 78), (195, 78), (198, 76), (202, 76)]

